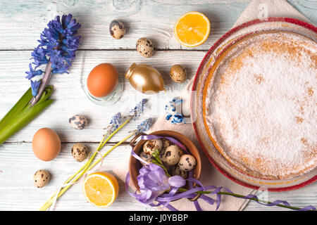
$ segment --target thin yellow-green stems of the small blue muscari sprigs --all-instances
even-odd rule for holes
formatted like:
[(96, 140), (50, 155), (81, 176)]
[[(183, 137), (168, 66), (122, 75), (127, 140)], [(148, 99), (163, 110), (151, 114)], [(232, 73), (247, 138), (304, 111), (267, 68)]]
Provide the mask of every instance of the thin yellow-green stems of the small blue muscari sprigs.
[[(120, 125), (120, 127), (118, 127), (115, 131), (113, 131), (113, 133), (111, 133), (107, 138), (106, 135), (104, 135), (103, 139), (100, 141), (99, 146), (97, 147), (97, 149), (95, 150), (94, 154), (89, 158), (89, 160), (85, 163), (85, 165), (83, 165), (80, 169), (77, 170), (77, 172), (75, 172), (75, 174), (73, 174), (72, 176), (70, 176), (67, 181), (64, 182), (64, 184), (70, 184), (73, 183), (75, 181), (77, 181), (78, 179), (80, 179), (80, 177), (82, 177), (83, 174), (85, 174), (86, 172), (88, 172), (90, 169), (92, 169), (95, 165), (97, 165), (100, 161), (101, 158), (99, 158), (99, 160), (97, 160), (96, 162), (94, 162), (93, 165), (90, 165), (92, 163), (92, 160), (94, 160), (94, 157), (97, 155), (97, 153), (99, 152), (99, 150), (101, 150), (101, 148), (103, 148), (106, 143), (109, 141), (109, 139), (111, 139), (111, 137), (113, 135), (115, 135), (121, 128), (123, 128), (125, 126), (125, 124), (128, 124), (128, 122), (132, 119), (133, 116), (128, 117), (125, 122), (123, 122), (123, 124)], [(135, 135), (135, 133), (130, 134), (129, 136), (125, 137), (125, 139), (119, 141), (118, 143), (116, 143), (115, 146), (113, 146), (112, 148), (110, 148), (106, 153), (104, 153), (104, 155), (102, 155), (102, 157), (104, 158), (106, 155), (108, 155), (108, 153), (110, 153), (113, 149), (115, 149), (116, 147), (118, 147), (121, 143), (123, 143), (124, 141), (126, 141), (127, 139), (129, 139), (131, 136)], [(77, 177), (75, 177), (78, 174)], [(57, 193), (57, 191), (54, 193), (54, 195), (51, 196), (51, 198), (49, 198), (49, 200), (46, 201), (46, 203), (44, 203), (44, 205), (42, 205), (42, 207), (39, 209), (40, 211), (45, 211), (47, 210), (51, 204), (54, 201), (54, 197), (56, 194), (57, 198), (60, 198), (61, 195), (63, 195), (63, 193), (65, 193), (68, 188), (70, 188), (71, 185), (66, 186), (64, 188), (61, 189), (61, 191), (59, 191), (59, 193)]]

